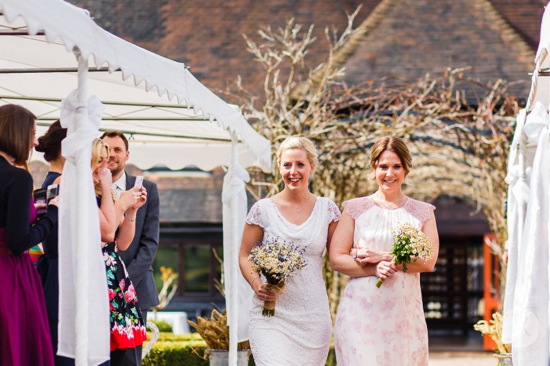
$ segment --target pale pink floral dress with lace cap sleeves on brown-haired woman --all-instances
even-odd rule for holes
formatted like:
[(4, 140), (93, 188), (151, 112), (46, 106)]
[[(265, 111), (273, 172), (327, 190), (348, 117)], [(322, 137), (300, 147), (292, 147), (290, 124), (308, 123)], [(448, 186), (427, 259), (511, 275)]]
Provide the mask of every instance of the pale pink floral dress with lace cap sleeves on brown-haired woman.
[[(355, 220), (353, 247), (391, 251), (390, 227), (421, 229), (434, 206), (407, 198), (399, 209), (376, 206), (370, 196), (344, 202)], [(398, 271), (376, 288), (377, 277), (352, 277), (344, 289), (334, 329), (339, 366), (428, 365), (428, 329), (420, 274)]]

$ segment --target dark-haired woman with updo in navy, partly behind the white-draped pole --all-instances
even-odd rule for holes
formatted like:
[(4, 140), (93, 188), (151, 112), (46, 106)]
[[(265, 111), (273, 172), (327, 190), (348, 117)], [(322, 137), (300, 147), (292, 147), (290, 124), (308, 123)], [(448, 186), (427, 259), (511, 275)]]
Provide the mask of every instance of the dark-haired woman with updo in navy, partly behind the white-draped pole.
[[(34, 149), (44, 153), (44, 159), (50, 164), (50, 170), (46, 175), (42, 188), (52, 184), (59, 184), (65, 158), (61, 155), (61, 141), (67, 137), (67, 128), (61, 127), (61, 122), (56, 121), (50, 125), (47, 132), (39, 137), (39, 144)], [(59, 262), (58, 262), (58, 225), (45, 238), (42, 243), (44, 254), (38, 261), (39, 270), (44, 288), (47, 318), (50, 323), (50, 335), (52, 336), (52, 350), (56, 366), (74, 365), (74, 360), (57, 355), (58, 343), (58, 312), (59, 312)]]

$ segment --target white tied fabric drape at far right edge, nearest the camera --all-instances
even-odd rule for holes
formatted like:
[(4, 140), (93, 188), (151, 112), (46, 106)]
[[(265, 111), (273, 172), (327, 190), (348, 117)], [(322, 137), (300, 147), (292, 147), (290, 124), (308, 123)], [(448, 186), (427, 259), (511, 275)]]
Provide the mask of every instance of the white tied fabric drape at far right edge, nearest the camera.
[(529, 201), (522, 233), (511, 334), (514, 365), (548, 365), (549, 225), (550, 225), (550, 117), (537, 102), (527, 116), (525, 134), (536, 142)]

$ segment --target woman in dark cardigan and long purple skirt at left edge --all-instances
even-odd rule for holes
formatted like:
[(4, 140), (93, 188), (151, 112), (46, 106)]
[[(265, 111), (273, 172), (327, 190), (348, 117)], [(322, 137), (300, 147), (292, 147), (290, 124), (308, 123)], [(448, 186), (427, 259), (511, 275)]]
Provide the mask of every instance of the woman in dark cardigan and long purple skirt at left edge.
[(32, 176), (16, 168), (29, 159), (36, 117), (0, 106), (0, 365), (54, 365), (40, 277), (29, 255), (57, 223), (58, 199), (36, 220)]

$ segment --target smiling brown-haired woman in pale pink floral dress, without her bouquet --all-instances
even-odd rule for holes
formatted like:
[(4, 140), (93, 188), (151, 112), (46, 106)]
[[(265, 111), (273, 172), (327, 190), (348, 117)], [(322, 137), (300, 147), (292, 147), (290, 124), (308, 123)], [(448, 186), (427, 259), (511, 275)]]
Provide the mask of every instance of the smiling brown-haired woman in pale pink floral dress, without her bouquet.
[[(401, 190), (412, 168), (402, 139), (384, 137), (371, 151), (371, 178), (378, 190), (371, 196), (344, 202), (331, 242), (329, 258), (335, 271), (351, 278), (342, 293), (334, 341), (338, 365), (428, 365), (428, 330), (420, 292), (421, 272), (434, 268), (439, 239), (428, 203)], [(401, 265), (391, 263), (391, 227), (408, 222), (426, 233), (435, 247), (432, 258)], [(359, 257), (353, 259), (350, 250)], [(361, 258), (365, 256), (366, 258)], [(378, 279), (384, 279), (380, 288)]]

